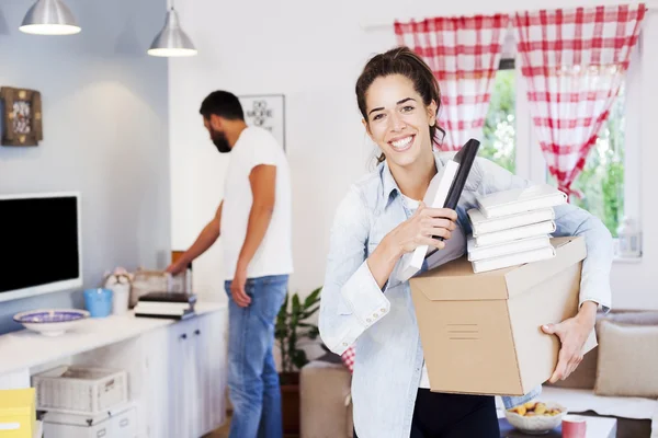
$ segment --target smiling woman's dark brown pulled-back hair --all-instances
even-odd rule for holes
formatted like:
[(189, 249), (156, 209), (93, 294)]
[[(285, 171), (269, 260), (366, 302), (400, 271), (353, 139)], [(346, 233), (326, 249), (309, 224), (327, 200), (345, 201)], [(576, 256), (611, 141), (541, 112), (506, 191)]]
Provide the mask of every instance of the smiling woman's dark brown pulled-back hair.
[[(356, 102), (363, 118), (367, 120), (365, 107), (365, 93), (375, 79), (392, 74), (402, 74), (413, 82), (416, 92), (420, 94), (426, 106), (434, 101), (436, 103), (436, 115), (441, 108), (441, 90), (432, 69), (412, 51), (409, 47), (396, 47), (383, 54), (374, 56), (365, 67), (356, 81)], [(434, 124), (430, 126), (430, 138), (432, 142), (439, 143), (436, 131), (445, 136), (445, 131)], [(377, 158), (377, 162), (386, 160), (384, 153)]]

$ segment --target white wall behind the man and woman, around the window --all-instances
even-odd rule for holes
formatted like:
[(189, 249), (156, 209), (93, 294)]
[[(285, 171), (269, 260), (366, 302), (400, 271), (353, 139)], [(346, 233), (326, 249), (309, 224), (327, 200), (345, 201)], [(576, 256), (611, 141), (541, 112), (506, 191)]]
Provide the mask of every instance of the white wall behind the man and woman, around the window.
[[(395, 45), (393, 30), (383, 23), (395, 18), (538, 9), (574, 4), (561, 0), (507, 0), (492, 3), (413, 3), (393, 0), (339, 0), (329, 3), (242, 1), (227, 9), (212, 0), (178, 5), (184, 28), (200, 49), (191, 59), (170, 61), (170, 139), (172, 183), (172, 244), (185, 249), (222, 198), (228, 157), (209, 143), (198, 105), (216, 89), (237, 94), (286, 95), (287, 153), (294, 184), (294, 257), (291, 290), (307, 293), (324, 279), (329, 227), (347, 187), (370, 170), (373, 145), (366, 139), (354, 96), (354, 83), (367, 58)], [(581, 4), (614, 1), (581, 1)], [(362, 28), (361, 24), (372, 25)], [(649, 13), (645, 25), (642, 66), (643, 92), (658, 95), (658, 20)], [(651, 169), (658, 160), (653, 146), (653, 120), (658, 110), (643, 102), (642, 217), (651, 223), (658, 207), (649, 187), (658, 184)], [(612, 276), (617, 307), (657, 308), (650, 266), (658, 263), (658, 231), (646, 227), (640, 264), (615, 264)], [(200, 292), (223, 297), (218, 273), (220, 253), (214, 247), (195, 266)]]

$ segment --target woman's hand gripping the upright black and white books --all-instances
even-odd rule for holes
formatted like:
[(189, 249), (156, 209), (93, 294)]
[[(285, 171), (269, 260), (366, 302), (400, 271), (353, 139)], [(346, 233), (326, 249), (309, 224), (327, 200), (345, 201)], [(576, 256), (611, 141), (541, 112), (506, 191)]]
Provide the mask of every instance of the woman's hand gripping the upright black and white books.
[(442, 250), (456, 226), (457, 214), (450, 208), (430, 208), (420, 203), (409, 219), (396, 227), (388, 235), (399, 255), (412, 252), (418, 246), (429, 245)]

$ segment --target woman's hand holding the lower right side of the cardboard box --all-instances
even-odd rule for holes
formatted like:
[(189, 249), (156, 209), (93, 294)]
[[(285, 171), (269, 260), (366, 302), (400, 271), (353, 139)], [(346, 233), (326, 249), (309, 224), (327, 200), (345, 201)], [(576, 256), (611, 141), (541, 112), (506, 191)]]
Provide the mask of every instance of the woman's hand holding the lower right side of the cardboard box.
[(582, 360), (582, 347), (597, 322), (597, 309), (598, 304), (595, 302), (586, 301), (576, 316), (569, 318), (559, 324), (542, 326), (544, 333), (557, 335), (561, 344), (557, 367), (555, 367), (555, 371), (549, 379), (551, 383), (555, 383), (560, 379), (565, 380)]

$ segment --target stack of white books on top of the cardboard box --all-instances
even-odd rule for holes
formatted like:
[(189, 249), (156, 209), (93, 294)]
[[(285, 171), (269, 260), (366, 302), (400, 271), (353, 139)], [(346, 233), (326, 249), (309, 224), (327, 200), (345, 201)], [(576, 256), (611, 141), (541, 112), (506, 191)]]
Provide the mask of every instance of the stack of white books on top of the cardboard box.
[(553, 207), (566, 201), (567, 195), (548, 184), (477, 196), (477, 208), (467, 211), (473, 233), (466, 250), (473, 272), (555, 257)]

